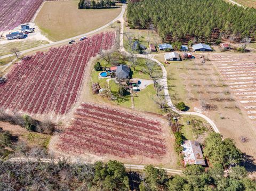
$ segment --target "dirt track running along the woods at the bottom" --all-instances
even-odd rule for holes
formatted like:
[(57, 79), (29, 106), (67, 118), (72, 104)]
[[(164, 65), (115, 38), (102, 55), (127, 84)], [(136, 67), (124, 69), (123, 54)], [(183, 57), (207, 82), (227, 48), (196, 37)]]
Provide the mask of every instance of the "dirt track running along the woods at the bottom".
[[(34, 157), (29, 157), (29, 158), (26, 158), (26, 157), (14, 157), (14, 158), (11, 158), (9, 159), (9, 161), (12, 161), (12, 162), (27, 162), (27, 161), (30, 161), (30, 162), (37, 162), (37, 161), (41, 161), (41, 162), (46, 162), (46, 163), (58, 163), (58, 161), (60, 161), (61, 159), (46, 159), (46, 158), (43, 158), (43, 159), (36, 159)], [(79, 160), (70, 160), (71, 163), (78, 163), (78, 162), (81, 162)], [(83, 162), (82, 162), (83, 163)], [(137, 164), (124, 164), (124, 167), (126, 169), (129, 169), (129, 170), (143, 170), (145, 168), (145, 165), (137, 165)], [(159, 167), (156, 167), (159, 169)], [(182, 170), (176, 170), (176, 169), (169, 169), (169, 168), (162, 168), (164, 169), (167, 173), (170, 173), (170, 174), (175, 174), (175, 175), (180, 175), (182, 174)]]

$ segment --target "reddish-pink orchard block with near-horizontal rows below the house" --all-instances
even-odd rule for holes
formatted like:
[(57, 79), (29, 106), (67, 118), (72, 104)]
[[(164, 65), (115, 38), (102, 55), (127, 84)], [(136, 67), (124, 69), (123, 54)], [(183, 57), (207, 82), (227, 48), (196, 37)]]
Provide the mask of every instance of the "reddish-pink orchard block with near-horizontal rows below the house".
[(170, 142), (170, 135), (166, 135), (169, 133), (163, 129), (157, 118), (82, 103), (75, 112), (71, 126), (60, 135), (57, 148), (75, 155), (90, 153), (120, 159), (143, 156), (149, 160), (162, 160), (170, 152), (167, 143)]

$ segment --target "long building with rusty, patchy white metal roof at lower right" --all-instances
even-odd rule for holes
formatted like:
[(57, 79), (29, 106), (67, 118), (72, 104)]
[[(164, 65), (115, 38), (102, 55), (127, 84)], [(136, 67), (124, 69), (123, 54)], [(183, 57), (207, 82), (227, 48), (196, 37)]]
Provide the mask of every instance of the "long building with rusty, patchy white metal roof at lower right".
[(203, 153), (198, 142), (195, 140), (185, 140), (183, 147), (184, 163), (205, 165)]

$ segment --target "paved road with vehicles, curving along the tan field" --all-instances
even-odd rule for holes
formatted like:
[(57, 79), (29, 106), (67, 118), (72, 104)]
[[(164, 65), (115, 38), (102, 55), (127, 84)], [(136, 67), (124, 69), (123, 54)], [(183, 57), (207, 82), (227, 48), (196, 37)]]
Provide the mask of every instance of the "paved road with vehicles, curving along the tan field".
[[(46, 48), (46, 47), (51, 47), (51, 46), (58, 45), (58, 44), (62, 44), (62, 43), (67, 43), (67, 42), (70, 41), (70, 40), (74, 40), (74, 39), (77, 39), (77, 38), (81, 38), (81, 37), (84, 37), (84, 36), (87, 36), (87, 35), (94, 34), (95, 32), (99, 32), (100, 30), (105, 29), (106, 27), (109, 27), (111, 24), (113, 24), (113, 23), (116, 22), (117, 20), (123, 18), (125, 9), (126, 9), (126, 4), (123, 4), (123, 6), (122, 6), (122, 11), (121, 11), (121, 13), (117, 16), (117, 18), (115, 18), (115, 19), (112, 20), (111, 22), (105, 24), (105, 26), (102, 26), (102, 27), (100, 27), (100, 28), (98, 28), (98, 29), (95, 29), (95, 30), (93, 30), (93, 31), (90, 31), (90, 32), (87, 32), (87, 33), (85, 33), (85, 34), (78, 35), (78, 36), (75, 36), (75, 37), (72, 37), (72, 38), (68, 38), (68, 39), (64, 39), (64, 40), (60, 40), (60, 41), (55, 41), (55, 42), (53, 42), (53, 43), (49, 43), (49, 44), (37, 46), (37, 47), (34, 47), (34, 48), (26, 49), (26, 50), (24, 50), (24, 51), (20, 51), (20, 53), (21, 53), (21, 54), (25, 54), (25, 53), (28, 53), (28, 52), (31, 52), (31, 51), (37, 51), (38, 49), (42, 49), (42, 48)], [(5, 59), (6, 57), (10, 57), (10, 56), (13, 56), (13, 55), (14, 55), (14, 54), (7, 54), (7, 55), (4, 55), (4, 56), (0, 56), (0, 59)]]

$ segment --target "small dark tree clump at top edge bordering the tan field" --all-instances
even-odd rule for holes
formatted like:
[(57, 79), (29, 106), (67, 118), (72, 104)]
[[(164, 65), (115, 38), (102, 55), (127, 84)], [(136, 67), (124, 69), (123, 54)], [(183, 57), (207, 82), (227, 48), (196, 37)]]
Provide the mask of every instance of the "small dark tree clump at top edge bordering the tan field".
[(78, 9), (108, 9), (115, 6), (115, 1), (111, 0), (101, 0), (98, 2), (94, 0), (80, 0), (78, 3)]

